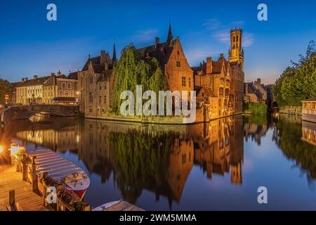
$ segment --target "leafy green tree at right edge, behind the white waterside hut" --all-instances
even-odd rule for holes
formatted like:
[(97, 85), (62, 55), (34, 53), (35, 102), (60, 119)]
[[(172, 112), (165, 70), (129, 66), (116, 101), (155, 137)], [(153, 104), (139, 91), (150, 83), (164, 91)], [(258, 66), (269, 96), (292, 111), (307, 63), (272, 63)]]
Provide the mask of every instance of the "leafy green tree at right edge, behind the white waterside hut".
[(273, 94), (279, 106), (300, 106), (301, 101), (316, 96), (316, 45), (310, 41), (305, 56), (291, 62), (275, 82)]

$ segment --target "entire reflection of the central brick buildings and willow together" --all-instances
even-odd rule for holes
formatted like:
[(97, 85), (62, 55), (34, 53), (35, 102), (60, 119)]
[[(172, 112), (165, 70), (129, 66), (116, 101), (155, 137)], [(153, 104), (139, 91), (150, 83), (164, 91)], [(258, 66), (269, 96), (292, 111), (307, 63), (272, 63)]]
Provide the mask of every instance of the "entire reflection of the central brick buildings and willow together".
[[(135, 203), (143, 190), (180, 202), (193, 165), (206, 176), (231, 172), (242, 183), (242, 117), (210, 124), (159, 126), (84, 120), (80, 126), (79, 158), (101, 181), (114, 172), (124, 199)], [(106, 165), (106, 166), (105, 166)]]

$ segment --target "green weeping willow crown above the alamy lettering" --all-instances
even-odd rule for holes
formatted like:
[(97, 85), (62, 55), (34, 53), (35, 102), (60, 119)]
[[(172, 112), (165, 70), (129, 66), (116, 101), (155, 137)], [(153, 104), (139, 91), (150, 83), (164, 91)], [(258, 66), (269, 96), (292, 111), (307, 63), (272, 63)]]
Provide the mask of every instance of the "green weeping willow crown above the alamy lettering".
[[(114, 66), (114, 112), (119, 114), (122, 103), (122, 91), (133, 91), (136, 97), (136, 85), (142, 85), (143, 91), (166, 91), (168, 83), (156, 58), (145, 60), (136, 50), (129, 45), (121, 52), (121, 57)], [(157, 99), (158, 101), (158, 99)]]

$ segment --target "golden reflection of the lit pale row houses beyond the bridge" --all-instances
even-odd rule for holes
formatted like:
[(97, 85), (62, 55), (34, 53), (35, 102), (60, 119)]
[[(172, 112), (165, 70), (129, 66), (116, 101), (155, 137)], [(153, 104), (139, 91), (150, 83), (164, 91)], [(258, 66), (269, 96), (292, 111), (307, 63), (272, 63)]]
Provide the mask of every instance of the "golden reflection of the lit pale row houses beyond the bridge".
[(18, 131), (16, 137), (28, 143), (45, 146), (52, 150), (64, 152), (66, 150), (77, 150), (78, 131), (77, 125), (62, 129), (36, 129)]

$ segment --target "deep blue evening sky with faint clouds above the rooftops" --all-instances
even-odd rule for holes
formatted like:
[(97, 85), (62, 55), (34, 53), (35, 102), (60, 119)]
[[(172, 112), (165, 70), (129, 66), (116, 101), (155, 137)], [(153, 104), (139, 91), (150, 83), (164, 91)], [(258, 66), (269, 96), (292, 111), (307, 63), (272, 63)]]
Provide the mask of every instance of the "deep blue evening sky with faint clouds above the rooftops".
[[(46, 20), (46, 6), (57, 6), (57, 21)], [(268, 5), (268, 21), (257, 6)], [(0, 75), (11, 82), (81, 69), (100, 50), (120, 55), (124, 46), (164, 41), (169, 27), (179, 36), (187, 60), (227, 56), (229, 31), (242, 27), (246, 81), (274, 82), (291, 60), (316, 41), (316, 2), (301, 1), (58, 1), (0, 3)]]

